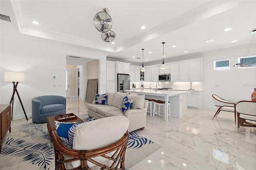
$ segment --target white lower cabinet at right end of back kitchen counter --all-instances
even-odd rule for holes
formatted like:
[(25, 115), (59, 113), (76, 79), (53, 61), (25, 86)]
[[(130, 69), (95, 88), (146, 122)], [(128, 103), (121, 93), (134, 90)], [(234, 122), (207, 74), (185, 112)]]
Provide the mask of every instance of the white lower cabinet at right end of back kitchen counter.
[(201, 109), (203, 107), (203, 91), (192, 91), (187, 96), (188, 108)]

